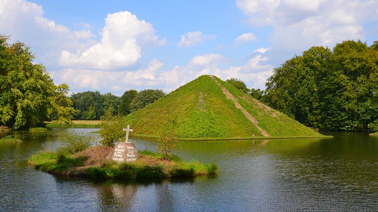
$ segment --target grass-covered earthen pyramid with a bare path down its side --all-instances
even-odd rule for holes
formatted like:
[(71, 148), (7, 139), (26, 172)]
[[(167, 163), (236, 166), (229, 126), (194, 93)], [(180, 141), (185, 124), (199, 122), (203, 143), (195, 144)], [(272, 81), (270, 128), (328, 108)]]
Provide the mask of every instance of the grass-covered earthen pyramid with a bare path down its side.
[(321, 137), (215, 76), (203, 75), (126, 116), (135, 134), (174, 120), (179, 138)]

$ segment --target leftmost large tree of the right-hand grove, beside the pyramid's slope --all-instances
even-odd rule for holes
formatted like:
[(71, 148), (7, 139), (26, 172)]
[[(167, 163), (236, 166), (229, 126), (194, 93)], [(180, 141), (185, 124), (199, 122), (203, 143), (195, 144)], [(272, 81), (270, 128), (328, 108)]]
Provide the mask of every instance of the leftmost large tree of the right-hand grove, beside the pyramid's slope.
[(275, 68), (262, 101), (301, 123), (312, 125), (316, 82), (330, 55), (328, 48), (312, 47)]

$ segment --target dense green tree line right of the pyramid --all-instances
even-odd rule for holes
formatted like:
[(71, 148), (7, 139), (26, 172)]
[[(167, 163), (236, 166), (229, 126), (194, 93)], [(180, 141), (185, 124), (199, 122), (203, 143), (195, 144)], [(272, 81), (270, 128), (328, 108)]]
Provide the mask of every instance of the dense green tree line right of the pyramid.
[(273, 69), (263, 91), (227, 81), (307, 126), (378, 131), (378, 41), (312, 47)]

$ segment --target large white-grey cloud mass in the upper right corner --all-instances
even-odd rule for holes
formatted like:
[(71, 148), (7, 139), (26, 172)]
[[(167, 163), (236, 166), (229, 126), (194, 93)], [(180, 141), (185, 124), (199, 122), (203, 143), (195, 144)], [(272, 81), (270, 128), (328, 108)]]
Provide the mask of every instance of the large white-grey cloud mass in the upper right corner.
[(378, 17), (378, 2), (369, 0), (236, 0), (236, 5), (250, 25), (273, 27), (271, 45), (282, 55), (312, 46), (333, 47), (346, 39), (363, 40), (362, 24)]

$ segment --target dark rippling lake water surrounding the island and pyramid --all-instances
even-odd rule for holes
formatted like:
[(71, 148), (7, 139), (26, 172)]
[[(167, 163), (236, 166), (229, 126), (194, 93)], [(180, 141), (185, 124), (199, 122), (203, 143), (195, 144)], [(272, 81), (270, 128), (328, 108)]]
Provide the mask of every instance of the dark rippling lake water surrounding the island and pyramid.
[[(0, 145), (0, 211), (378, 210), (378, 137), (181, 142), (176, 153), (185, 160), (219, 165), (218, 175), (190, 180), (69, 179), (27, 164), (69, 130), (18, 132), (23, 143)], [(138, 149), (157, 145), (132, 140)]]

